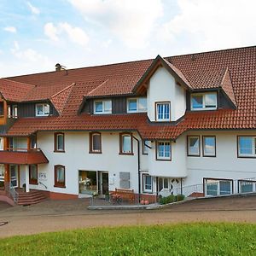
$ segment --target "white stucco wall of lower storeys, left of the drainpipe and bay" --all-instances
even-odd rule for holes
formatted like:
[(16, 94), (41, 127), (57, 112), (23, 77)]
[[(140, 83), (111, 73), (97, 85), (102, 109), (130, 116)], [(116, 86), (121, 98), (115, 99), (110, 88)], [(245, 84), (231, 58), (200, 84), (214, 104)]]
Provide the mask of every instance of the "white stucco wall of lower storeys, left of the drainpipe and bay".
[[(114, 182), (109, 185), (110, 190), (119, 188), (119, 172), (130, 172), (131, 189), (138, 190), (137, 142), (133, 140), (134, 155), (120, 155), (118, 132), (102, 132), (102, 154), (89, 154), (89, 133), (85, 131), (65, 132), (65, 153), (53, 152), (53, 132), (38, 132), (38, 148), (49, 160), (47, 165), (38, 165), (38, 174), (46, 173), (47, 178), (42, 182), (50, 191), (79, 194), (79, 170), (108, 172), (109, 179)], [(145, 155), (141, 155), (143, 170), (148, 169), (145, 158)], [(66, 167), (66, 189), (54, 187), (55, 165)], [(37, 187), (44, 189), (42, 185)]]

